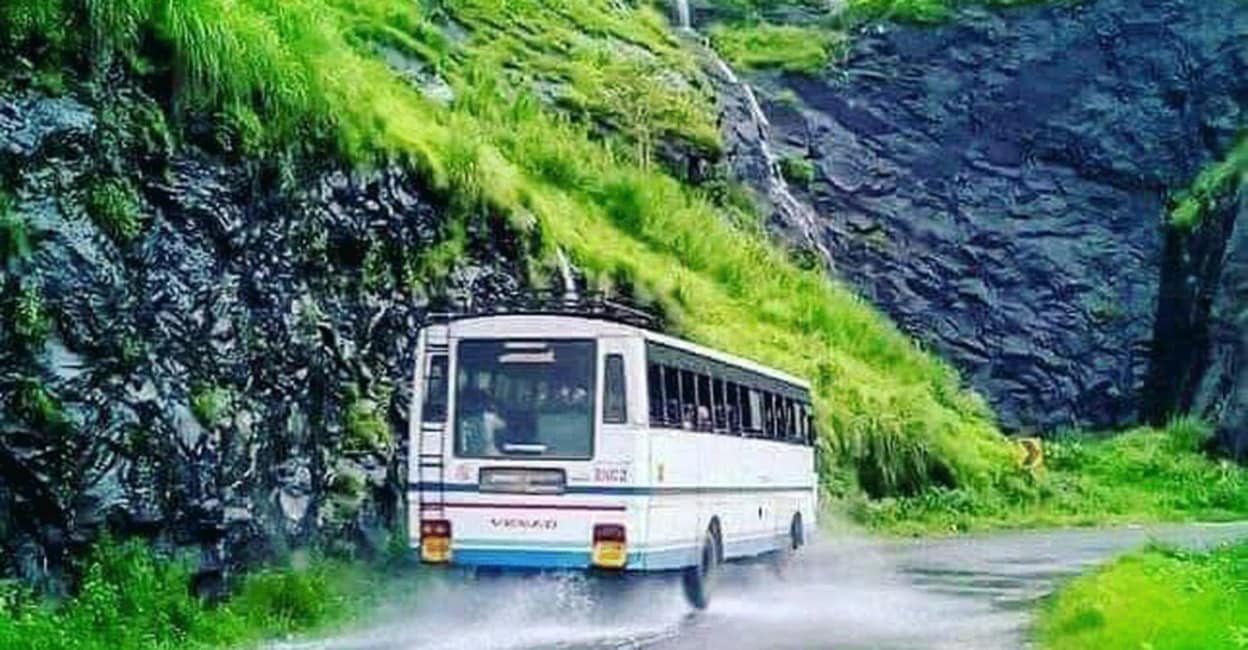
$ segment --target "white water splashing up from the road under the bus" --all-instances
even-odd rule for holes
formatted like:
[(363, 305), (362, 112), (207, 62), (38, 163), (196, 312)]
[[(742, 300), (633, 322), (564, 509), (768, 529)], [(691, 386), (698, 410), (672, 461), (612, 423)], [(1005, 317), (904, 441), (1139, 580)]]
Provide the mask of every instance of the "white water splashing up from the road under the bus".
[[(1012, 648), (1022, 613), (920, 586), (874, 544), (831, 541), (785, 579), (728, 566), (710, 610), (693, 614), (675, 580), (577, 576), (443, 580), (367, 630), (282, 650), (408, 649), (941, 649)], [(1002, 645), (1002, 640), (1011, 640)], [(1017, 640), (1017, 643), (1013, 643)]]

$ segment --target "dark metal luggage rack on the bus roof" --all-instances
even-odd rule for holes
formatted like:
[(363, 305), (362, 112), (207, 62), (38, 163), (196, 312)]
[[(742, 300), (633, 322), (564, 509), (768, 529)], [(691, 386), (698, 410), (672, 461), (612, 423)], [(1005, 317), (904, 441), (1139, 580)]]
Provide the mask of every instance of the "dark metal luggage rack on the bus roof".
[(602, 292), (527, 291), (485, 302), (452, 302), (449, 309), (428, 314), (433, 322), (480, 316), (578, 316), (654, 331), (661, 326), (658, 316)]

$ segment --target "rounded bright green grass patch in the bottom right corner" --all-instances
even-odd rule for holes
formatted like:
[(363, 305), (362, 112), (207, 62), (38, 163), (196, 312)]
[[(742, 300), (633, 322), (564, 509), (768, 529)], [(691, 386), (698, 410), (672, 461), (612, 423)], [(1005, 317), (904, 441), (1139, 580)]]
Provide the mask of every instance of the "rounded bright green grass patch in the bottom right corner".
[(1128, 555), (1062, 589), (1036, 634), (1047, 650), (1248, 648), (1248, 545)]

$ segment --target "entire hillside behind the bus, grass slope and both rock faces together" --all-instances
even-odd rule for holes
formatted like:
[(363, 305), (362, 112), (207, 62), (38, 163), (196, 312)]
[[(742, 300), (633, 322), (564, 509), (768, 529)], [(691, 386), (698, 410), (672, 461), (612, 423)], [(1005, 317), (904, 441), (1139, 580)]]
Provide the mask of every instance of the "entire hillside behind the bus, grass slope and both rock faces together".
[[(1085, 480), (1002, 437), (1192, 412), (1243, 449), (1248, 11), (1163, 5), (10, 0), (4, 573), (106, 528), (207, 590), (383, 553), (419, 323), (564, 260), (809, 377), (880, 528), (1231, 517), (1196, 443)], [(1119, 490), (1141, 455), (1191, 499)]]

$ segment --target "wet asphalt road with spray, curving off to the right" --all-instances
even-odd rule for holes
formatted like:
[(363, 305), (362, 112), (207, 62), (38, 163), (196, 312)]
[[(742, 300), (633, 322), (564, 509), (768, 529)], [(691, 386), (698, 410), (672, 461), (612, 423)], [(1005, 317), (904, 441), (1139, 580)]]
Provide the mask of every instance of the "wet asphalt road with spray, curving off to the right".
[[(985, 649), (1027, 648), (1037, 600), (1061, 580), (1149, 540), (1201, 548), (1248, 524), (872, 541), (825, 539), (784, 578), (729, 566), (709, 610), (670, 580), (579, 578), (439, 581), (378, 611), (377, 624), (286, 650), (408, 649)], [(404, 599), (398, 599), (402, 603)]]

